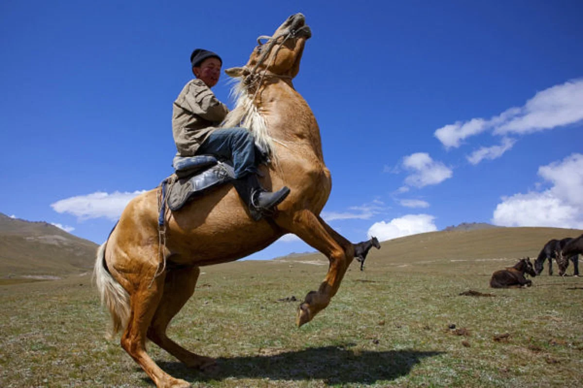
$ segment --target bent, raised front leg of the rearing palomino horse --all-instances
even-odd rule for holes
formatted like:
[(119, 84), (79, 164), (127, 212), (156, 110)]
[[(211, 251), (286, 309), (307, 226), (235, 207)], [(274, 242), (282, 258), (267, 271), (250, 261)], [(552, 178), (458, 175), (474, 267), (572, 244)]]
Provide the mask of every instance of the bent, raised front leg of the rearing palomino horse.
[[(331, 230), (327, 225), (322, 225), (318, 217), (309, 210), (301, 210), (293, 213), (291, 217), (280, 215), (278, 224), (287, 231), (296, 234), (305, 243), (322, 252), (330, 261), (328, 273), (318, 288), (318, 291), (310, 291), (298, 308), (296, 323), (298, 326), (310, 322), (319, 311), (328, 306), (331, 298), (336, 294), (346, 269), (352, 262), (354, 248), (350, 241), (344, 239), (338, 233), (334, 237), (340, 236), (344, 247), (328, 233)], [(347, 252), (351, 255), (347, 257)]]

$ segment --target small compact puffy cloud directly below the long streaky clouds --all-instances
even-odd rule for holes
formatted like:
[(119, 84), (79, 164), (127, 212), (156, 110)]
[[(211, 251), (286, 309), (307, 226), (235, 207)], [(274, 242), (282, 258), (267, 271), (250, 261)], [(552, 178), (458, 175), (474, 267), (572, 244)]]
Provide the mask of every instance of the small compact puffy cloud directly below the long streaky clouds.
[(453, 175), (450, 168), (442, 162), (434, 161), (426, 152), (416, 152), (405, 156), (403, 158), (403, 167), (413, 171), (411, 175), (405, 178), (405, 183), (415, 187), (438, 184)]

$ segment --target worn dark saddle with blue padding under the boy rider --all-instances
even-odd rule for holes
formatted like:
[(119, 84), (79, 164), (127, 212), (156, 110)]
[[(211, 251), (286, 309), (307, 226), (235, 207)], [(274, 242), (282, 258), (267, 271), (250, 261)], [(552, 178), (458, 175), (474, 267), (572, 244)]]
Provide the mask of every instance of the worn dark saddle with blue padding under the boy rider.
[(167, 198), (163, 201), (166, 201), (171, 211), (182, 208), (196, 195), (235, 179), (230, 161), (221, 161), (213, 155), (176, 155), (172, 166), (174, 181), (170, 177), (162, 183), (163, 192), (165, 184), (168, 185)]

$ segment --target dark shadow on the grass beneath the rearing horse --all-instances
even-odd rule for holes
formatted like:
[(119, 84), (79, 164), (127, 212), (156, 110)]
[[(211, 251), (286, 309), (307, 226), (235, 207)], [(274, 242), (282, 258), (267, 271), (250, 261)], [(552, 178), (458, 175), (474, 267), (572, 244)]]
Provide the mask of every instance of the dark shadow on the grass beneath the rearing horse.
[[(180, 362), (157, 364), (175, 378), (189, 382), (210, 382), (227, 378), (270, 380), (323, 380), (327, 385), (343, 383), (373, 384), (408, 375), (425, 357), (441, 351), (391, 350), (366, 351), (349, 349), (354, 344), (217, 358), (219, 370), (211, 375), (187, 368)], [(273, 352), (272, 352), (273, 353)], [(148, 378), (144, 378), (149, 380)]]

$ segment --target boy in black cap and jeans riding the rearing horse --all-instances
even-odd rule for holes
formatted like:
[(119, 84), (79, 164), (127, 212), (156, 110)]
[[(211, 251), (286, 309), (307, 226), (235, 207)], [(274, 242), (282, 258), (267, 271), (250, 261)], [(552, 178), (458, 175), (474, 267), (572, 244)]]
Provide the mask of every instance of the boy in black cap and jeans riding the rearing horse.
[(191, 56), (195, 79), (188, 81), (173, 104), (172, 131), (180, 156), (214, 155), (233, 163), (235, 186), (251, 217), (259, 220), (290, 193), (287, 186), (265, 191), (257, 179), (255, 138), (245, 128), (219, 128), (229, 113), (210, 90), (219, 82), (223, 61), (212, 51), (197, 48)]

